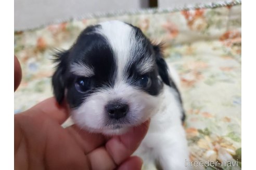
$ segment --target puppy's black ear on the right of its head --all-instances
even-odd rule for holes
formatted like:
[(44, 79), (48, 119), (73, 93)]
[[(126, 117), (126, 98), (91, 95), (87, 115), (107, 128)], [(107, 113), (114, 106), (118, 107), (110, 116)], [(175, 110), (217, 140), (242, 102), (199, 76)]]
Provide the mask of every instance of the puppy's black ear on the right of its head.
[(153, 45), (153, 50), (155, 51), (156, 54), (156, 62), (158, 66), (158, 73), (161, 79), (165, 84), (168, 86), (171, 86), (171, 79), (169, 75), (169, 70), (167, 63), (163, 59), (163, 55), (161, 52), (161, 45)]

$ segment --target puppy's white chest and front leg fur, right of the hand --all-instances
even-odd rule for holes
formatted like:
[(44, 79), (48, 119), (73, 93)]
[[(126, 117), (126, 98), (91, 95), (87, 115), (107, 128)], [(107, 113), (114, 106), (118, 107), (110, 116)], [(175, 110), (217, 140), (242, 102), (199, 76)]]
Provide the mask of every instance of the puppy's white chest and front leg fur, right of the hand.
[(181, 106), (176, 92), (164, 85), (157, 113), (151, 118), (149, 131), (134, 153), (144, 161), (144, 169), (155, 167), (159, 160), (163, 169), (189, 169), (185, 131), (181, 121)]

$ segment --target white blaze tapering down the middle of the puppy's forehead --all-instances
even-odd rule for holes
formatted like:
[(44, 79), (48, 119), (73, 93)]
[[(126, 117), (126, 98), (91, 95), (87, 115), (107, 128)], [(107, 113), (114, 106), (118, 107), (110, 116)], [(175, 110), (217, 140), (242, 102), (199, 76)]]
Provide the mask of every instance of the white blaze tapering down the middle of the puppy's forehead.
[(117, 61), (117, 76), (122, 78), (123, 70), (129, 62), (133, 44), (135, 43), (133, 28), (120, 21), (108, 21), (100, 24), (97, 31), (109, 41)]

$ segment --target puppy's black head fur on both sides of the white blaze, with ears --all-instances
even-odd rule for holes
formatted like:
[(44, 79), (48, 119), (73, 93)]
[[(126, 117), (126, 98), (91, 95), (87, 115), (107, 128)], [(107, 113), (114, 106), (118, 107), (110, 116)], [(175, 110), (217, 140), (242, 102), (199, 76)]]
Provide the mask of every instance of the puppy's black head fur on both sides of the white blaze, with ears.
[[(138, 63), (142, 63), (145, 58), (153, 58), (153, 69), (146, 73), (150, 78), (150, 87), (146, 89), (140, 88), (150, 95), (158, 95), (163, 87), (163, 83), (172, 87), (178, 94), (178, 100), (182, 105), (182, 98), (178, 91), (176, 84), (168, 73), (168, 67), (162, 58), (160, 46), (152, 45), (150, 40), (138, 29), (133, 26), (135, 39), (138, 45), (135, 46), (133, 54), (131, 56), (134, 60), (125, 67), (126, 82), (137, 88), (137, 82), (144, 76), (140, 75), (137, 69)], [(67, 100), (72, 108), (80, 106), (87, 96), (96, 92), (100, 88), (112, 88), (114, 86), (115, 78), (117, 75), (117, 63), (111, 49), (108, 40), (95, 32), (96, 29), (100, 29), (100, 25), (87, 27), (78, 37), (75, 44), (67, 51), (59, 52), (56, 54), (57, 65), (56, 72), (53, 75), (52, 83), (54, 89), (54, 95), (57, 101), (61, 103), (65, 97), (65, 89), (67, 91)], [(143, 51), (143, 52), (141, 52)], [(120, 56), (119, 56), (120, 57)], [(86, 66), (94, 68), (94, 76), (89, 78), (91, 81), (91, 87), (86, 92), (79, 92), (75, 88), (75, 82), (80, 76), (73, 75), (70, 72), (70, 66), (72, 63), (83, 63)], [(158, 76), (161, 77), (159, 80)], [(182, 120), (185, 119), (185, 113), (183, 111)]]

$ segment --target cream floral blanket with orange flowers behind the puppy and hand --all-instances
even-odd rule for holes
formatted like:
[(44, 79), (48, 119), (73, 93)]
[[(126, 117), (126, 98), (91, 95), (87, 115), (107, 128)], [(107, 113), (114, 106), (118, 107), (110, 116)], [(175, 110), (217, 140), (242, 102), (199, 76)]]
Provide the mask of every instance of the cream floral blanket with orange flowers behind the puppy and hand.
[[(239, 1), (181, 10), (151, 9), (95, 16), (15, 32), (15, 55), (23, 72), (15, 93), (15, 112), (53, 95), (50, 77), (54, 51), (68, 49), (86, 26), (106, 20), (132, 23), (151, 40), (164, 42), (164, 56), (181, 77), (189, 165), (194, 169), (240, 169)], [(197, 164), (200, 161), (203, 166)]]

